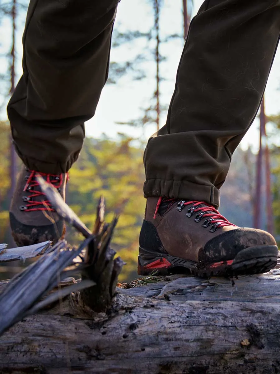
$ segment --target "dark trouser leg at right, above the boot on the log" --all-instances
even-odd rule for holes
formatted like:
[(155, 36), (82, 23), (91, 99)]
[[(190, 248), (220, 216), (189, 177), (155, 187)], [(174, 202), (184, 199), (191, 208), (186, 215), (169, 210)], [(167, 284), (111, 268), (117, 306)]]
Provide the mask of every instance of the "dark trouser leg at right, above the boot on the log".
[(280, 1), (206, 0), (192, 20), (166, 125), (148, 141), (144, 194), (219, 205), (256, 116), (280, 34)]

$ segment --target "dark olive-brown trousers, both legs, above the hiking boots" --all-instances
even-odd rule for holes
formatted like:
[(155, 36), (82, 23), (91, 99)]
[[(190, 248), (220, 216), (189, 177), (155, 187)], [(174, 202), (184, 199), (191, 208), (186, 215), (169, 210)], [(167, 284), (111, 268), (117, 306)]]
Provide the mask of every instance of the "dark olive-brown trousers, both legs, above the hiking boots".
[[(24, 74), (7, 108), (16, 150), (28, 168), (57, 174), (77, 159), (84, 122), (94, 115), (108, 76), (117, 3), (30, 1)], [(279, 35), (279, 0), (203, 3), (190, 24), (167, 123), (145, 150), (146, 197), (219, 205), (219, 189), (258, 110)]]

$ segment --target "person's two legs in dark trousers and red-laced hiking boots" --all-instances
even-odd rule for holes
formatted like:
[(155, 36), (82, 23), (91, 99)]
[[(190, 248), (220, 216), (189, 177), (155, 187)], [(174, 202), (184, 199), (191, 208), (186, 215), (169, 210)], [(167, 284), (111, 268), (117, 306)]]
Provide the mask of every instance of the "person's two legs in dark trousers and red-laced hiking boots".
[[(19, 245), (63, 234), (55, 212), (53, 223), (44, 215), (46, 205), (53, 209), (34, 170), (64, 196), (66, 172), (83, 145), (84, 122), (94, 115), (108, 77), (118, 3), (29, 2), (24, 74), (7, 108), (16, 151), (28, 167), (10, 209)], [(205, 0), (190, 22), (166, 125), (144, 153), (140, 274), (258, 273), (276, 264), (270, 234), (236, 227), (216, 208), (231, 156), (262, 100), (279, 19), (279, 0)]]

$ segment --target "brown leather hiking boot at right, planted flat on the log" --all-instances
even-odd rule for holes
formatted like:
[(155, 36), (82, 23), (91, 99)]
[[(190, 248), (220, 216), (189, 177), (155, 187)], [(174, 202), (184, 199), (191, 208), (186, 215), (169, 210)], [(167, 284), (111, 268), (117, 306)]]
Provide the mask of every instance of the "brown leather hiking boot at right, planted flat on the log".
[(234, 276), (264, 273), (277, 263), (273, 236), (237, 227), (202, 201), (149, 197), (139, 242), (140, 275)]

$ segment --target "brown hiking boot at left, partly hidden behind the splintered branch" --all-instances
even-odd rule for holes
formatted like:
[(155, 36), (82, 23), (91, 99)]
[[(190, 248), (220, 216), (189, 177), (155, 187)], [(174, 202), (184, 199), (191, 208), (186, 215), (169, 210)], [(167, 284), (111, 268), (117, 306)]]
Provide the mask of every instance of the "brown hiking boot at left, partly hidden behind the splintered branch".
[(41, 192), (36, 175), (51, 183), (65, 199), (67, 174), (44, 174), (22, 167), (10, 205), (10, 227), (18, 246), (59, 240), (65, 232), (64, 221)]

